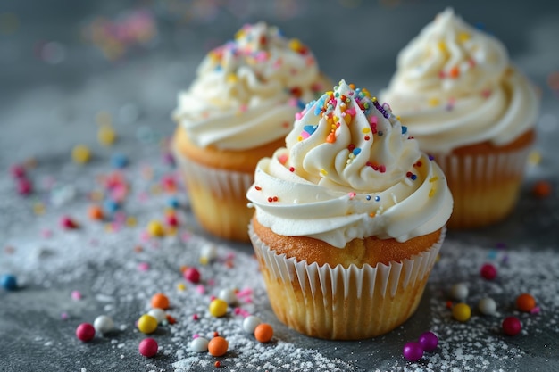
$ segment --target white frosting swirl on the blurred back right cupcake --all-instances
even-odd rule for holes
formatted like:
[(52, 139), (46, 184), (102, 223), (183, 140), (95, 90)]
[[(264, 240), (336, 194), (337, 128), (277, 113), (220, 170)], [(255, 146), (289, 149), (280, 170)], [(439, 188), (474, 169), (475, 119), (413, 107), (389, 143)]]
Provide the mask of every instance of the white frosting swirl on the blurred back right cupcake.
[(536, 124), (539, 106), (535, 88), (511, 65), (505, 46), (450, 8), (398, 54), (380, 99), (421, 149), (434, 153), (485, 141), (507, 145)]

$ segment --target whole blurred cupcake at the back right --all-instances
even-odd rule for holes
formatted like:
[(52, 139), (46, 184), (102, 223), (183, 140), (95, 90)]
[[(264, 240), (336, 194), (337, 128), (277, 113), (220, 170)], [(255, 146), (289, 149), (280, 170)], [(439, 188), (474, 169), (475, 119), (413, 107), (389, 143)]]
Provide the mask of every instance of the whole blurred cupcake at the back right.
[(380, 100), (445, 172), (448, 227), (484, 227), (513, 211), (539, 100), (496, 37), (446, 9), (398, 54)]

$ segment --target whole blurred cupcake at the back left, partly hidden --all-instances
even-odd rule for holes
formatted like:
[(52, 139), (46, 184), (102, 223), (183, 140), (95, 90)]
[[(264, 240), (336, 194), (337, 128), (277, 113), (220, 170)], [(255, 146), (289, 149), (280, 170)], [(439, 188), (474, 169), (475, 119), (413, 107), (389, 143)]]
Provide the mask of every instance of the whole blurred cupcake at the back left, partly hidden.
[[(211, 51), (172, 113), (171, 146), (205, 230), (246, 241), (257, 161), (284, 145), (296, 112), (327, 83), (308, 47), (263, 22)], [(330, 85), (330, 83), (328, 83)]]

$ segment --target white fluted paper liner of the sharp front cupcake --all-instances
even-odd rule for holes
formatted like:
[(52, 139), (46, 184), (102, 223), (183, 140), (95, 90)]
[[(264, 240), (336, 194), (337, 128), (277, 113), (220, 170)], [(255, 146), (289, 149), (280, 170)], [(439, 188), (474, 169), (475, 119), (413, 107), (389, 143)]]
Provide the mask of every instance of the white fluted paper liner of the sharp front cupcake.
[(305, 335), (339, 340), (382, 335), (412, 316), (445, 232), (437, 244), (402, 262), (331, 268), (277, 254), (249, 225), (276, 316)]

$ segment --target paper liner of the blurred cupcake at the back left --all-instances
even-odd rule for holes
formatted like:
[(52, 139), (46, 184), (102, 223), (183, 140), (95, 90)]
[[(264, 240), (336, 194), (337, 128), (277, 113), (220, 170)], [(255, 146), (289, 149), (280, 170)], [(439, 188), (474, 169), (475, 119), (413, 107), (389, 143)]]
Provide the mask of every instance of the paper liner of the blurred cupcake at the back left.
[(206, 167), (178, 152), (175, 159), (200, 225), (215, 236), (248, 242), (246, 226), (254, 211), (246, 206), (246, 190), (253, 184), (254, 174)]

